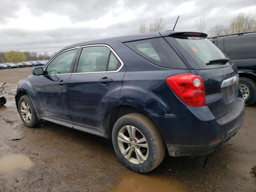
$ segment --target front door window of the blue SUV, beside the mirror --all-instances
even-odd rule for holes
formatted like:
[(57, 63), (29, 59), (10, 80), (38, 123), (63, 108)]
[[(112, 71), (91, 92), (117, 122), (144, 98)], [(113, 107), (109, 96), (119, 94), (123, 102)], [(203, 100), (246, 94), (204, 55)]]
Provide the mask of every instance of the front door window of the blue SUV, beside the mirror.
[(65, 74), (70, 72), (70, 67), (77, 49), (66, 51), (57, 56), (46, 68), (47, 75)]

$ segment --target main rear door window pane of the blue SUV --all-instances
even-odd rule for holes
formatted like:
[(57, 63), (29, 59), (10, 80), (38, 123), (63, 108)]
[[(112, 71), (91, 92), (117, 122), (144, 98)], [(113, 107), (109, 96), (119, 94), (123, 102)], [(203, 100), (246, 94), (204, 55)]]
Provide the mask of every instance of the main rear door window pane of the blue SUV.
[(106, 46), (84, 47), (78, 61), (76, 72), (106, 71), (109, 54), (110, 49)]

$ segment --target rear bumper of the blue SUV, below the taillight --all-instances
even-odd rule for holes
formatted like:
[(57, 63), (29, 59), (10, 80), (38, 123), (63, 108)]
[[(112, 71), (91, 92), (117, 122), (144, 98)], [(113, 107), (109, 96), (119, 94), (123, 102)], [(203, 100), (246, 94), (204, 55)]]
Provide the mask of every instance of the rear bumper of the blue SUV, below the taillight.
[(234, 136), (243, 124), (244, 108), (244, 99), (239, 97), (234, 109), (217, 120), (207, 106), (187, 106), (178, 116), (151, 118), (162, 132), (170, 156), (196, 156), (211, 153)]

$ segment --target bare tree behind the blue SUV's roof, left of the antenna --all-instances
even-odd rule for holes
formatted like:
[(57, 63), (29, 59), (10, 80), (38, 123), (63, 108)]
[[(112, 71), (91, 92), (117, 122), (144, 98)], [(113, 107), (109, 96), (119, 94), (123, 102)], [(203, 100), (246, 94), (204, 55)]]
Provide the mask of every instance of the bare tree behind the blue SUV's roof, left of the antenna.
[(154, 20), (154, 22), (149, 24), (149, 27), (147, 28), (145, 24), (140, 24), (139, 27), (139, 33), (145, 33), (145, 32), (158, 32), (164, 29), (166, 26), (166, 22), (164, 22), (163, 18), (157, 18)]

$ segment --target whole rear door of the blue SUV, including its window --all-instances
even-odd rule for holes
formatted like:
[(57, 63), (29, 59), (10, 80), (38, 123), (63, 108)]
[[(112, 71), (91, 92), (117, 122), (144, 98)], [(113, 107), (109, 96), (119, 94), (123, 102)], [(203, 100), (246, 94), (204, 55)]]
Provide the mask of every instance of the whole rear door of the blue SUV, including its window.
[(74, 128), (104, 135), (104, 116), (118, 104), (125, 66), (107, 45), (81, 48), (68, 87)]

